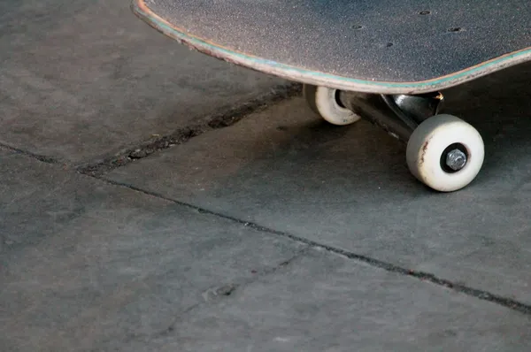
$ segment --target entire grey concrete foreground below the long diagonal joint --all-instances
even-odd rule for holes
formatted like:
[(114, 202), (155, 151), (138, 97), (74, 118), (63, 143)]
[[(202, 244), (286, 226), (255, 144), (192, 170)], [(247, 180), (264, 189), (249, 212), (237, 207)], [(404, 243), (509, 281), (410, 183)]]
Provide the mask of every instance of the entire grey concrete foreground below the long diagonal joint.
[(527, 351), (528, 316), (0, 150), (6, 351)]

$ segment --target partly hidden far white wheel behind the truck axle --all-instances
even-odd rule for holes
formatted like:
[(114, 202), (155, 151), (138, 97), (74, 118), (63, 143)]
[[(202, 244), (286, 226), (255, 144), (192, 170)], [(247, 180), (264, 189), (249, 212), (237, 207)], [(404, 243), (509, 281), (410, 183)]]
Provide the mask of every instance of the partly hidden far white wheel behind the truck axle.
[(360, 117), (337, 101), (337, 89), (304, 85), (304, 97), (313, 112), (332, 125), (346, 126), (358, 122)]

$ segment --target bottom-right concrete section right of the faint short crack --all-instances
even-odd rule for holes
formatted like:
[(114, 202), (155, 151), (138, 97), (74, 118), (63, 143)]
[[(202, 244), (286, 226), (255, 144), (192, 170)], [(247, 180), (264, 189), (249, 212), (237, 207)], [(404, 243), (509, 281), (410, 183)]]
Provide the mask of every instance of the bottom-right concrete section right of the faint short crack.
[(494, 304), (312, 251), (120, 350), (523, 352), (530, 324)]

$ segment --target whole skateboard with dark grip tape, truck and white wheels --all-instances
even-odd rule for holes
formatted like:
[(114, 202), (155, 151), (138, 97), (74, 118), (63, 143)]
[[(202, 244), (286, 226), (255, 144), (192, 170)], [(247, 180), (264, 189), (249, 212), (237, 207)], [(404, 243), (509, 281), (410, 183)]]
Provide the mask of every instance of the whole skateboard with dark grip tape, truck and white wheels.
[(329, 123), (367, 119), (407, 144), (440, 192), (481, 171), (481, 134), (442, 90), (531, 60), (531, 3), (427, 0), (133, 0), (135, 15), (206, 55), (302, 83)]

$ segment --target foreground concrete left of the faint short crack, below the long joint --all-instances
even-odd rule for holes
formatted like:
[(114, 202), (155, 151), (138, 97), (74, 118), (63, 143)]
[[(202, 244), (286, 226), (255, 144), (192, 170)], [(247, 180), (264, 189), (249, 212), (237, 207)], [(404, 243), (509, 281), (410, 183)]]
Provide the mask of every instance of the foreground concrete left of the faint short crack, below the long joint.
[(0, 185), (2, 351), (110, 350), (164, 334), (304, 249), (2, 151)]

